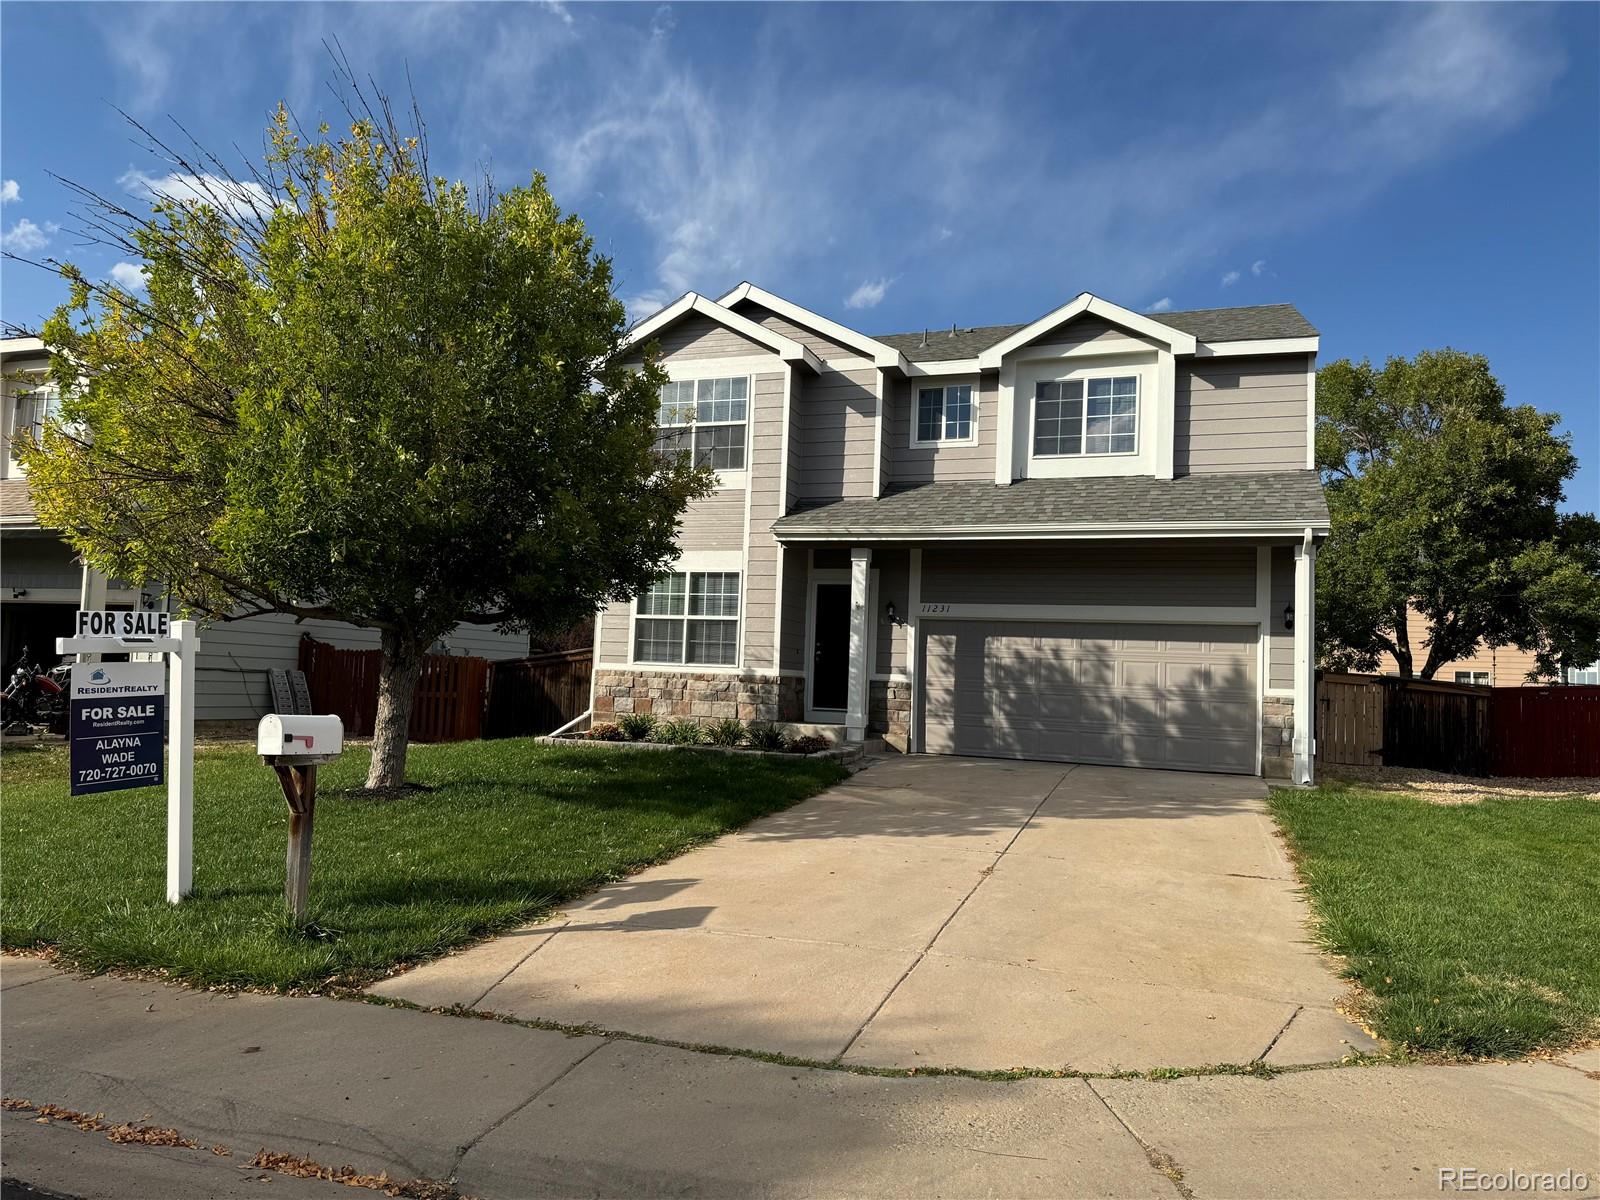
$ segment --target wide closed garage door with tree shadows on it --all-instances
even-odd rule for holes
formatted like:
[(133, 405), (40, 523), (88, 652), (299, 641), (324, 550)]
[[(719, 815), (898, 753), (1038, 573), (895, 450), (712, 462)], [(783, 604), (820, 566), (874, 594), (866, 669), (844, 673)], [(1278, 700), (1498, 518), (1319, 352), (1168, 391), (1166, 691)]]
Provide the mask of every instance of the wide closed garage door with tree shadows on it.
[(1254, 774), (1254, 626), (930, 621), (923, 749)]

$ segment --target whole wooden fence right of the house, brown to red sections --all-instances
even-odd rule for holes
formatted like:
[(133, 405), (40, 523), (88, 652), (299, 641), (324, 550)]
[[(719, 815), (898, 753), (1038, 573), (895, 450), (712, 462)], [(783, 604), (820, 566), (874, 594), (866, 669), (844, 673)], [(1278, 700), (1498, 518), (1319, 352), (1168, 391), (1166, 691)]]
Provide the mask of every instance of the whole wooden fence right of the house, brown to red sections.
[(1317, 762), (1546, 779), (1600, 774), (1600, 686), (1480, 688), (1323, 672)]

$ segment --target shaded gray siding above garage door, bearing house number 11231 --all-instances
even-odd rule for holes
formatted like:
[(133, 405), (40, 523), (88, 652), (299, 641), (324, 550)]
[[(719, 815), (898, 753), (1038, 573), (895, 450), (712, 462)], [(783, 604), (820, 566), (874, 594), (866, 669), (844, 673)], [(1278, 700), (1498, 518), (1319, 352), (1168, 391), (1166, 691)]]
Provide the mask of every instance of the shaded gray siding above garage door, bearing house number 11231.
[(923, 603), (1254, 608), (1256, 547), (1206, 542), (938, 546)]

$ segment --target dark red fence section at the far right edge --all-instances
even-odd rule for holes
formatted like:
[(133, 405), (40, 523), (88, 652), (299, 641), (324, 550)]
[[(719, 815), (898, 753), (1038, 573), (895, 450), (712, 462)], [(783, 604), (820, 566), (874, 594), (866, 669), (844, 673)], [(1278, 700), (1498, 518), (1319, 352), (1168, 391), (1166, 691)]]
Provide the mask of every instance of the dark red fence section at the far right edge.
[(1600, 776), (1600, 686), (1493, 688), (1490, 773)]

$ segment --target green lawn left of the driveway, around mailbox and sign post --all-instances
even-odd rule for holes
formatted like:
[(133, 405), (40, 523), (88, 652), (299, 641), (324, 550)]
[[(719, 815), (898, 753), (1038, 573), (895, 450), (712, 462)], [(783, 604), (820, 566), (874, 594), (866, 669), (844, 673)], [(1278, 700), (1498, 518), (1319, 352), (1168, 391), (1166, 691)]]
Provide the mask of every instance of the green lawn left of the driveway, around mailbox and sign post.
[(814, 795), (830, 760), (629, 752), (526, 739), (413, 746), (435, 789), (349, 790), (354, 749), (320, 771), (310, 933), (283, 918), (286, 808), (248, 749), (195, 757), (195, 891), (165, 901), (166, 790), (67, 795), (66, 750), (0, 758), (0, 941), (88, 970), (208, 984), (358, 984), (538, 917), (606, 880)]

